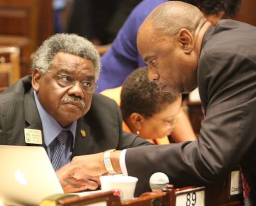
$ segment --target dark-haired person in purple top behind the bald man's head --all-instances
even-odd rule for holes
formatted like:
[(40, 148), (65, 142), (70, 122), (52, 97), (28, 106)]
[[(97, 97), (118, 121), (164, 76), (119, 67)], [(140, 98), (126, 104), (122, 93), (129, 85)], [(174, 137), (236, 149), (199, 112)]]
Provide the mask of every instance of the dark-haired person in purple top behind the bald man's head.
[[(137, 50), (137, 31), (148, 14), (168, 0), (143, 0), (131, 12), (119, 30), (111, 48), (102, 56), (102, 72), (97, 81), (102, 90), (122, 85), (136, 68), (145, 66)], [(191, 3), (204, 13), (207, 20), (216, 25), (219, 19), (236, 16), (241, 0), (182, 0)]]

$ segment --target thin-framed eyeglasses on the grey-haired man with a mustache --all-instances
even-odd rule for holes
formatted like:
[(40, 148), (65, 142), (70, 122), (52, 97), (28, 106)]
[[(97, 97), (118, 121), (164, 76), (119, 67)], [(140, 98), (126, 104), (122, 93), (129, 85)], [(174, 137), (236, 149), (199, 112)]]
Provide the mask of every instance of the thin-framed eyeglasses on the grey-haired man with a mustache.
[[(76, 84), (76, 79), (67, 75), (67, 74), (62, 74), (62, 75), (58, 75), (52, 71), (49, 71), (47, 69), (44, 69), (44, 68), (40, 68), (40, 69), (43, 69), (49, 73), (52, 73), (54, 74), (56, 77), (58, 77), (58, 84), (63, 86), (63, 87), (73, 87), (73, 85)], [(96, 85), (95, 82), (92, 82), (92, 81), (88, 81), (88, 80), (84, 80), (82, 82), (79, 82), (82, 90), (86, 93), (93, 93), (96, 88), (98, 88), (98, 86)]]

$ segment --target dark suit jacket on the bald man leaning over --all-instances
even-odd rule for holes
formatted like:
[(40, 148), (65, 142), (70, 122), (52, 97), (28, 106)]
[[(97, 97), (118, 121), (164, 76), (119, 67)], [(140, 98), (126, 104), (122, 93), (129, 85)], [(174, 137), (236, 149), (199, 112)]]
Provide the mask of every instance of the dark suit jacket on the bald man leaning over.
[(208, 28), (198, 87), (206, 116), (197, 141), (127, 150), (128, 174), (145, 183), (137, 193), (149, 189), (154, 172), (166, 173), (175, 187), (206, 185), (239, 164), (256, 197), (256, 27), (221, 20)]

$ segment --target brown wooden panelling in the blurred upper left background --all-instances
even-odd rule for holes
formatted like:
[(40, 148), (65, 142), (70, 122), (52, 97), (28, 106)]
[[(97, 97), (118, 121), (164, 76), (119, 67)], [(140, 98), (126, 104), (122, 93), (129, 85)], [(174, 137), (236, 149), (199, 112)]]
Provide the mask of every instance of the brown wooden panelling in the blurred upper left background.
[(21, 76), (30, 73), (31, 54), (52, 34), (52, 0), (0, 0), (0, 45), (20, 48)]

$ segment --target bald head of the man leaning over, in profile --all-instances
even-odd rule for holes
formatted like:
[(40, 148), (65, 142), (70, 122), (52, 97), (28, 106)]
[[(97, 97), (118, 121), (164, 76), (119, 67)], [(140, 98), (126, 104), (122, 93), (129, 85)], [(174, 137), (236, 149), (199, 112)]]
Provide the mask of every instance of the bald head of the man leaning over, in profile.
[(170, 1), (155, 8), (137, 34), (148, 79), (174, 96), (195, 89), (201, 42), (210, 25), (191, 4)]

